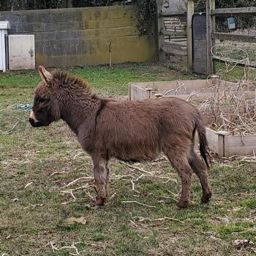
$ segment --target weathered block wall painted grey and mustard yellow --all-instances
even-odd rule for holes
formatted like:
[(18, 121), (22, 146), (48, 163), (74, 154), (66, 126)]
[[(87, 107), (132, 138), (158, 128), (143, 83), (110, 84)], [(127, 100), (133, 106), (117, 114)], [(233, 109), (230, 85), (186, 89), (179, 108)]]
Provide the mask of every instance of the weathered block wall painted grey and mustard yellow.
[(34, 34), (37, 66), (106, 64), (110, 42), (113, 63), (155, 59), (132, 6), (0, 12), (0, 20), (10, 21), (9, 34)]

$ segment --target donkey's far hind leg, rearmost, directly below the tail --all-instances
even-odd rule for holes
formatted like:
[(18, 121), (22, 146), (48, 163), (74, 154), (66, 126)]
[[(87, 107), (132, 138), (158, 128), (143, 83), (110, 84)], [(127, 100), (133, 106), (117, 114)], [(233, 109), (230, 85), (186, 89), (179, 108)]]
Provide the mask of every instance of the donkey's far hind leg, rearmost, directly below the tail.
[(203, 161), (195, 153), (194, 146), (190, 147), (187, 159), (189, 165), (194, 170), (195, 174), (200, 180), (200, 184), (203, 190), (203, 197), (201, 198), (202, 203), (207, 203), (211, 198), (211, 189), (208, 184), (208, 176), (206, 171), (206, 165), (203, 164)]

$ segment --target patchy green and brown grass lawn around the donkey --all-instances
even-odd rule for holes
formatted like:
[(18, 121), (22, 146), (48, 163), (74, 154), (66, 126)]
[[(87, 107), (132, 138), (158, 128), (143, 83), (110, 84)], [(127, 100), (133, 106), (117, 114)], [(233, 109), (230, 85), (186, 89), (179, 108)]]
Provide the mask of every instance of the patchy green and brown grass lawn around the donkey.
[[(89, 81), (99, 94), (127, 97), (128, 82), (184, 80), (193, 77), (157, 64), (122, 64), (113, 68), (70, 70)], [(86, 184), (92, 162), (63, 121), (34, 129), (29, 112), (37, 72), (0, 74), (0, 255), (254, 255), (233, 247), (236, 239), (256, 244), (256, 166), (246, 162), (213, 165), (208, 172), (213, 198), (200, 204), (197, 178), (192, 203), (175, 208), (181, 189), (166, 159), (134, 164), (145, 175), (117, 160), (110, 163), (110, 200), (94, 207), (94, 189), (63, 192)], [(135, 190), (131, 180), (136, 180)], [(136, 201), (138, 203), (124, 203)], [(86, 224), (69, 223), (84, 217)], [(50, 244), (51, 243), (51, 244)], [(63, 247), (61, 249), (61, 247)], [(67, 246), (67, 247), (65, 247)], [(75, 246), (75, 247), (74, 247)], [(56, 249), (53, 251), (52, 247)], [(255, 246), (256, 247), (256, 246)], [(59, 249), (59, 250), (57, 250)]]

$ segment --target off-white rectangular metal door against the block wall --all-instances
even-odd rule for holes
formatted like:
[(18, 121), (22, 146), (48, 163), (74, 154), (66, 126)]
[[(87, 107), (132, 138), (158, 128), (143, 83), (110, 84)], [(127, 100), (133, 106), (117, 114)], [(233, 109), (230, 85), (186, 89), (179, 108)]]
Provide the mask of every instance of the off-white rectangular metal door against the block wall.
[(10, 70), (34, 69), (34, 34), (12, 34), (9, 36)]

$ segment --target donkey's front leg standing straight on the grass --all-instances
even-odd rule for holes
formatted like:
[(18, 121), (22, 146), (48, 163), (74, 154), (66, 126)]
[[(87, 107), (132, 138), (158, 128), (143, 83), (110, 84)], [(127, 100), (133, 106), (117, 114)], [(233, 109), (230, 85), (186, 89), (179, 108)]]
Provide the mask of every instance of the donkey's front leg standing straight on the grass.
[(97, 206), (103, 206), (108, 196), (108, 170), (107, 161), (102, 157), (93, 157), (94, 181), (97, 189)]

